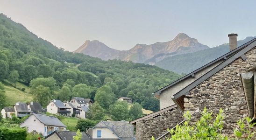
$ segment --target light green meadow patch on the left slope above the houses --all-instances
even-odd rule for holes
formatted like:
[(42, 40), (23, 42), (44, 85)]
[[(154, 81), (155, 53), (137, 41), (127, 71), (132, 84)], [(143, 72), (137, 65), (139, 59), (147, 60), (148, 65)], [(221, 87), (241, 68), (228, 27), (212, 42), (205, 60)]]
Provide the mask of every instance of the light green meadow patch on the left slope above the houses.
[(14, 105), (16, 102), (22, 102), (22, 103), (26, 103), (32, 100), (32, 95), (27, 93), (27, 91), (29, 91), (29, 87), (25, 87), (25, 85), (21, 85), (21, 83), (19, 83), (19, 85), (17, 85), (17, 87), (24, 87), (26, 90), (26, 92), (24, 91), (20, 91), (10, 85), (5, 85), (5, 94), (7, 96), (7, 103), (8, 105)]

